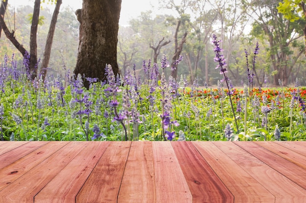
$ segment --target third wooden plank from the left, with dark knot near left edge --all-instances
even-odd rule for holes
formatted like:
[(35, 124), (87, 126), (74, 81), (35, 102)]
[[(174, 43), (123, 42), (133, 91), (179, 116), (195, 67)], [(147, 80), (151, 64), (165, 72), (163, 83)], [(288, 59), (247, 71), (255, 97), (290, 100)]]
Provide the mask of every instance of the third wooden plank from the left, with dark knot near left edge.
[[(33, 142), (34, 143), (34, 142)], [(39, 146), (39, 142), (35, 142)], [(30, 143), (29, 143), (30, 144)], [(26, 147), (28, 144), (24, 145)], [(0, 170), (0, 190), (12, 184), (26, 172), (44, 161), (47, 157), (53, 154), (56, 150), (65, 146), (66, 143), (56, 142), (52, 145), (46, 144), (41, 148), (34, 150), (28, 155), (22, 157), (18, 161), (6, 166)], [(22, 148), (17, 148), (22, 150)]]

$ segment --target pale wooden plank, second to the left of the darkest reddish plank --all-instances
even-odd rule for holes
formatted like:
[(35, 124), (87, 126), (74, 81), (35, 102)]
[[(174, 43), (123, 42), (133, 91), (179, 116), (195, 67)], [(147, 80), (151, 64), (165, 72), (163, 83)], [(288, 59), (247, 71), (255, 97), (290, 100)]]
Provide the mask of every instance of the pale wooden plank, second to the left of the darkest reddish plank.
[(132, 142), (118, 203), (155, 203), (152, 142)]

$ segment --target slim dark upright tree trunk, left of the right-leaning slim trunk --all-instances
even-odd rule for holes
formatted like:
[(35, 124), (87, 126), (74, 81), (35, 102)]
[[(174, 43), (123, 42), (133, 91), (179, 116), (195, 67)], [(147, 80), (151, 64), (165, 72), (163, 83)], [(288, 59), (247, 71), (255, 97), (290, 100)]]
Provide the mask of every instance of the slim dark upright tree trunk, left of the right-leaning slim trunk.
[(30, 33), (30, 74), (31, 79), (34, 80), (37, 77), (37, 28), (39, 21), (39, 12), (41, 7), (41, 1), (35, 0), (34, 11)]

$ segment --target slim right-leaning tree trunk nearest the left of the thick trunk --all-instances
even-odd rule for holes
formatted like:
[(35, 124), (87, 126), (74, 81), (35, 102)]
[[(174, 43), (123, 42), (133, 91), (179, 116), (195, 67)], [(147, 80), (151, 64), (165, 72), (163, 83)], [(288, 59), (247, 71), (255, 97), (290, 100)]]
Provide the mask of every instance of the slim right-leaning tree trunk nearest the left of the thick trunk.
[(62, 0), (56, 1), (55, 9), (54, 9), (50, 27), (49, 27), (47, 41), (44, 47), (44, 58), (43, 58), (43, 63), (42, 63), (41, 71), (40, 71), (40, 75), (42, 75), (43, 79), (45, 78), (47, 74), (47, 67), (48, 67), (49, 60), (50, 60), (51, 47), (52, 47), (53, 36), (55, 32), (55, 25), (56, 25), (57, 17), (60, 12), (61, 4), (62, 4)]

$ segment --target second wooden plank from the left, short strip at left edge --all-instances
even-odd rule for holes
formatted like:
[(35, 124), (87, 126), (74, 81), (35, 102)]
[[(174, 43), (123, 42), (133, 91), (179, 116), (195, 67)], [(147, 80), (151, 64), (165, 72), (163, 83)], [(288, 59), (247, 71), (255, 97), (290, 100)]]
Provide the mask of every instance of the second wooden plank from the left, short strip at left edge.
[(0, 169), (12, 164), (13, 162), (47, 143), (48, 142), (28, 142), (27, 144), (22, 145), (22, 147), (14, 148), (10, 150), (9, 153), (0, 155)]

